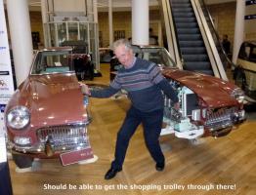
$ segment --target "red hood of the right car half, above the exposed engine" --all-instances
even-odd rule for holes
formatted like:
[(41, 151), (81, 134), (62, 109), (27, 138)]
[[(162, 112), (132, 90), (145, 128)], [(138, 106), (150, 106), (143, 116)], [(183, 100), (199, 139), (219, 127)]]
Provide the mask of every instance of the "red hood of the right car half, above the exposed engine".
[(190, 88), (209, 107), (236, 105), (238, 101), (231, 96), (237, 88), (231, 82), (192, 71), (165, 69), (163, 75)]

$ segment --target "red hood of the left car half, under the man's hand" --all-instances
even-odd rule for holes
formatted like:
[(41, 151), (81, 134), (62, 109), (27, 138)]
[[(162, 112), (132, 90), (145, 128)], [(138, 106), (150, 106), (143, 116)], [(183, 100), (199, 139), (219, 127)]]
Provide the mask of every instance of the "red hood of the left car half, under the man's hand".
[(21, 85), (14, 99), (17, 99), (16, 102), (11, 104), (24, 105), (29, 109), (31, 127), (87, 120), (83, 96), (75, 74), (30, 76)]

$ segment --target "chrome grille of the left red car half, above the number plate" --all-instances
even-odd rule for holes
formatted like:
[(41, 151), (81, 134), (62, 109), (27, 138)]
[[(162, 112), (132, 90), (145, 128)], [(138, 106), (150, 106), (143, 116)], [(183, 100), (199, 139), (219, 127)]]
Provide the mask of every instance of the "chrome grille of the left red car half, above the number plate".
[(89, 146), (85, 125), (65, 125), (41, 128), (37, 131), (40, 142), (50, 141), (55, 151)]

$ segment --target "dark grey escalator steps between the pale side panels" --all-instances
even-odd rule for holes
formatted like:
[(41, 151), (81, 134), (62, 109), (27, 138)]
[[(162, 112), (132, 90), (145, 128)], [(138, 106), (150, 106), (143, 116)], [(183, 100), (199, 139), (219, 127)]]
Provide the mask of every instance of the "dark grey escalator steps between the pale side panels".
[(190, 0), (171, 0), (183, 68), (214, 75)]

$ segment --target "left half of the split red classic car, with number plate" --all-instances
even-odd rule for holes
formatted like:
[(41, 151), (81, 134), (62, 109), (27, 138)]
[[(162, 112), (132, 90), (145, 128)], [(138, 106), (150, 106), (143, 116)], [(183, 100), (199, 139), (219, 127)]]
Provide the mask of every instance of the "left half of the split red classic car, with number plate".
[(35, 157), (61, 157), (63, 165), (94, 157), (87, 136), (88, 101), (72, 58), (68, 47), (38, 51), (6, 106), (5, 123), (19, 168), (30, 167)]

